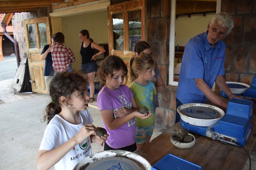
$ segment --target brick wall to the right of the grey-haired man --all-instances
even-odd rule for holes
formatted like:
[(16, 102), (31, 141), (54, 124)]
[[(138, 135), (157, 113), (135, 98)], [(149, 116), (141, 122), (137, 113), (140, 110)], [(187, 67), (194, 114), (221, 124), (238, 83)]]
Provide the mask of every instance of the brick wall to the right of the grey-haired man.
[(224, 40), (225, 79), (251, 85), (256, 76), (256, 1), (222, 0), (221, 12), (234, 17), (234, 28)]

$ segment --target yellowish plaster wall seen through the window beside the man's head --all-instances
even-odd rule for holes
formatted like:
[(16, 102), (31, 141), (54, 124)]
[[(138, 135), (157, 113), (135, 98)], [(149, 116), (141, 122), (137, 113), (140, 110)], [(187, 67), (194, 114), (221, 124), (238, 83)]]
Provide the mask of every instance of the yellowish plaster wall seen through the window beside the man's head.
[(175, 45), (185, 46), (188, 40), (207, 30), (207, 24), (211, 21), (215, 13), (193, 14), (189, 18), (188, 15), (179, 16), (175, 20)]

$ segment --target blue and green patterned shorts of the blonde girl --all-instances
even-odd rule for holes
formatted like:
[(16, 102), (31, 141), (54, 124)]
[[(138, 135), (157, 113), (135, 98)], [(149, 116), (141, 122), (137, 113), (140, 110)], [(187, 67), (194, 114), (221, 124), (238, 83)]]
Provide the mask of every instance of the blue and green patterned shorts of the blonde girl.
[(145, 143), (147, 136), (151, 136), (153, 134), (153, 126), (148, 127), (137, 127), (136, 126), (136, 143), (142, 144)]

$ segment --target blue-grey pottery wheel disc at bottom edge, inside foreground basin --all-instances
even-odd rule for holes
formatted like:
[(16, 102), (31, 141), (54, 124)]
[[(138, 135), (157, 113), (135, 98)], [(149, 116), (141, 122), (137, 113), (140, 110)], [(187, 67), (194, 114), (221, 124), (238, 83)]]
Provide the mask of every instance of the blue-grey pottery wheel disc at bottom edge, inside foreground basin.
[(89, 164), (85, 169), (102, 170), (141, 170), (142, 168), (133, 160), (122, 157), (109, 157), (99, 159)]

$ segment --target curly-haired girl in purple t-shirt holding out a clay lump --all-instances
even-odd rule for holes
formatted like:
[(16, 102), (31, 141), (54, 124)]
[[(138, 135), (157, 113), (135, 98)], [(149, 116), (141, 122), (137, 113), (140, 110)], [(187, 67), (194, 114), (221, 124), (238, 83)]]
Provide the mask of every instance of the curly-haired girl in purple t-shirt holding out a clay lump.
[(122, 85), (127, 67), (118, 56), (108, 56), (100, 63), (98, 75), (101, 79), (100, 92), (97, 98), (98, 108), (109, 137), (104, 150), (120, 149), (134, 152), (136, 147), (135, 119), (146, 119), (148, 114), (140, 113), (130, 88)]

